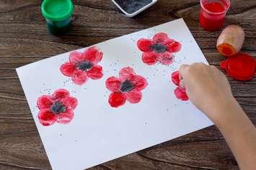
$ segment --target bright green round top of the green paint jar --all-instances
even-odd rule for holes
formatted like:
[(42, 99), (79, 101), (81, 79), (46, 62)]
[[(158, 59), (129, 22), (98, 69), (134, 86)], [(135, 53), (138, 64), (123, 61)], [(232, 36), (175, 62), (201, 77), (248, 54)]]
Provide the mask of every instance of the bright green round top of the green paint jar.
[(41, 9), (45, 19), (59, 22), (73, 14), (74, 6), (71, 0), (44, 0)]

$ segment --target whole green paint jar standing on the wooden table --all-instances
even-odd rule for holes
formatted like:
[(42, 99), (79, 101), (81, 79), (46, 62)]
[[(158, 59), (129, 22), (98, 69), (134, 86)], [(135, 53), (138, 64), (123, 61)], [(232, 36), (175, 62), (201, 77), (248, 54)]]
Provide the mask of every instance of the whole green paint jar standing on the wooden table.
[(71, 0), (44, 0), (41, 9), (50, 34), (66, 34), (71, 30), (74, 11)]

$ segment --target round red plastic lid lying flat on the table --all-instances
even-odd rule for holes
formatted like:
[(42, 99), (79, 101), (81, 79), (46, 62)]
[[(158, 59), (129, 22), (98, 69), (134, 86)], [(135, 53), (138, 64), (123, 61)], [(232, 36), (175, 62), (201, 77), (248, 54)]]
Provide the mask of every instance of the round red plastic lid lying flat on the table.
[(221, 68), (236, 80), (251, 80), (256, 71), (256, 61), (250, 55), (238, 53), (221, 62)]

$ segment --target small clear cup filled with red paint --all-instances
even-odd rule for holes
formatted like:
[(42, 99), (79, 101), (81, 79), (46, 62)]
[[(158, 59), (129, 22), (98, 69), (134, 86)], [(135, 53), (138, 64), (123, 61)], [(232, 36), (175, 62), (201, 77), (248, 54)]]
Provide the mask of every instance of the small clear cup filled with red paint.
[(200, 0), (200, 26), (207, 31), (216, 31), (222, 27), (230, 0)]

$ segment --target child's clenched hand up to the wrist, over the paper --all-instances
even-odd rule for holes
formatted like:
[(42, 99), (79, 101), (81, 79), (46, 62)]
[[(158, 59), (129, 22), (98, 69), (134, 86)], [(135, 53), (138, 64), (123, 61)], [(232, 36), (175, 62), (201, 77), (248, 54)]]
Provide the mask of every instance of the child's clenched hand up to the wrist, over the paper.
[(234, 104), (234, 97), (225, 75), (214, 66), (203, 63), (182, 65), (180, 85), (190, 101), (212, 121), (218, 121), (219, 110)]

